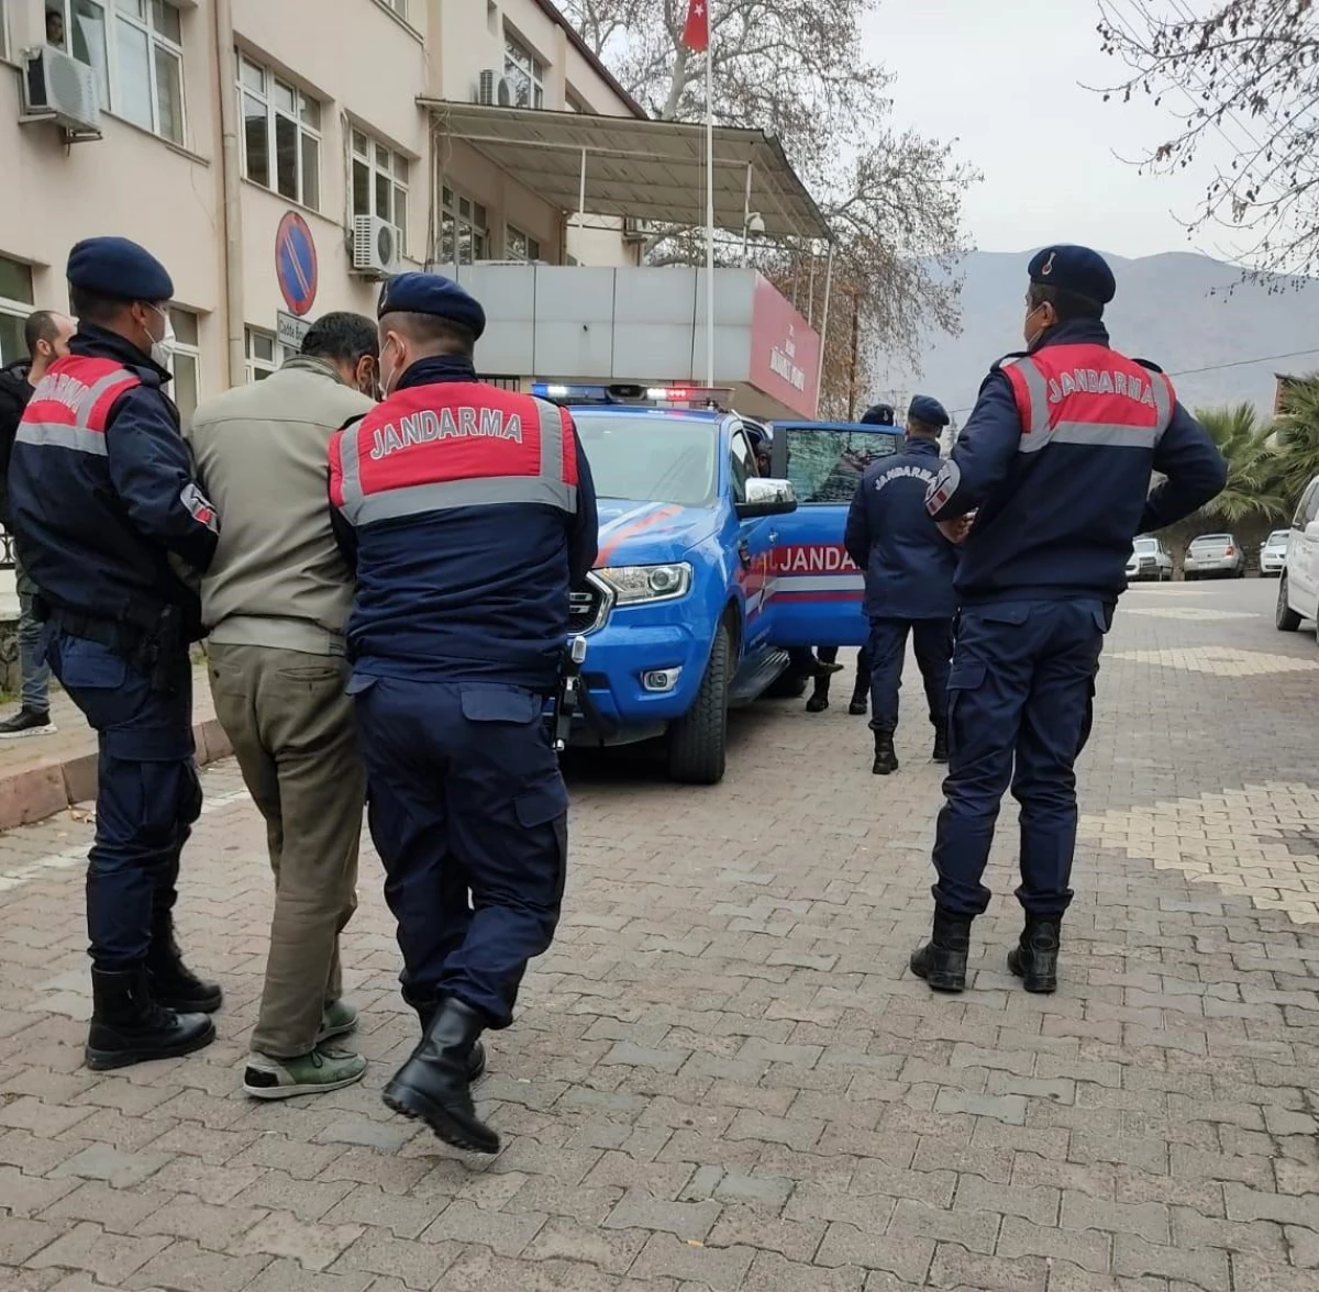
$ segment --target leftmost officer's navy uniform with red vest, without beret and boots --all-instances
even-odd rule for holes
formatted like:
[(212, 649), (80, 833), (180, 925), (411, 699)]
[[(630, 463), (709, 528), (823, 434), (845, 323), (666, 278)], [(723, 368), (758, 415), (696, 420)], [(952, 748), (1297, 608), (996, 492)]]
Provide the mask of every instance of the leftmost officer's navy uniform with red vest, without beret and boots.
[(170, 936), (179, 854), (202, 806), (193, 761), (195, 592), (219, 525), (193, 477), (169, 373), (82, 324), (33, 393), (9, 505), (47, 614), (55, 676), (99, 741), (87, 871), (94, 966), (125, 970)]

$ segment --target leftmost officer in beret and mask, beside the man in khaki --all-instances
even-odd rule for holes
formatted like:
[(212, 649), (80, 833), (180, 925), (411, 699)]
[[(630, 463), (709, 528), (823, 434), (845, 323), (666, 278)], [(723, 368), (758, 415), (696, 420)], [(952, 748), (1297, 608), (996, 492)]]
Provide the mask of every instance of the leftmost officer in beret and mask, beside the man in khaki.
[(193, 476), (170, 380), (165, 268), (95, 237), (69, 256), (78, 318), (18, 427), (9, 498), (41, 589), (44, 649), (96, 729), (96, 841), (87, 870), (92, 1068), (190, 1053), (215, 1038), (220, 989), (174, 941), (179, 854), (202, 807), (193, 762), (191, 584), (215, 510)]

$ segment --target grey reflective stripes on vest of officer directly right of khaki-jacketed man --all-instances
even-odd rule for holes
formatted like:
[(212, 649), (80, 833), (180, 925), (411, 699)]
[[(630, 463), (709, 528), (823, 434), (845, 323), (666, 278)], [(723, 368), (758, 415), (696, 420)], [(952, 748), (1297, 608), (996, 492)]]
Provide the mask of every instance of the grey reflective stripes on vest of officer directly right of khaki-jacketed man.
[[(425, 484), (365, 493), (361, 486), (361, 427), (364, 419), (344, 427), (339, 436), (339, 471), (335, 493), (339, 510), (350, 525), (450, 512), (456, 508), (539, 504), (563, 512), (576, 512), (576, 485), (567, 484), (565, 471), (565, 427), (561, 410), (534, 399), (541, 434), (539, 472), (536, 476), (472, 476), (462, 480), (435, 480)], [(575, 472), (574, 472), (575, 475)]]

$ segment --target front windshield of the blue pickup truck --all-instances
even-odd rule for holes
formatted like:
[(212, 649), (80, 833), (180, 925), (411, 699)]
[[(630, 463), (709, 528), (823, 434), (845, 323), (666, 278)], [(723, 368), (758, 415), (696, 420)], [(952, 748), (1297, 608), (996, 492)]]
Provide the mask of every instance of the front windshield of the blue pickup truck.
[(601, 498), (708, 506), (719, 430), (710, 421), (582, 417), (578, 438)]

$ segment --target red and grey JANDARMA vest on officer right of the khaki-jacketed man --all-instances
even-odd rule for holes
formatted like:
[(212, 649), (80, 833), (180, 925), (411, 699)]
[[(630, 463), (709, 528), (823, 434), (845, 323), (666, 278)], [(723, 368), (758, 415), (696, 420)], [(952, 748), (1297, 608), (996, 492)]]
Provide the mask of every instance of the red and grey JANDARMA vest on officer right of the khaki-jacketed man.
[(455, 508), (576, 512), (576, 444), (563, 409), (481, 382), (398, 390), (330, 451), (330, 497), (355, 529)]

